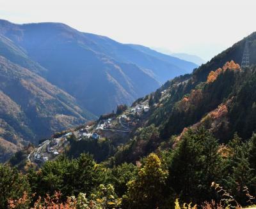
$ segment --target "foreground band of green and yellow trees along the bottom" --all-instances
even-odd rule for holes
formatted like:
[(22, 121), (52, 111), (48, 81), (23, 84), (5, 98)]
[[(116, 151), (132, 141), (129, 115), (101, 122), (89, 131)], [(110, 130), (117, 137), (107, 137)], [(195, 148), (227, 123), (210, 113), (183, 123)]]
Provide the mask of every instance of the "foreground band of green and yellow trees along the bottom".
[[(253, 205), (256, 135), (226, 145), (204, 127), (189, 129), (173, 148), (136, 164), (109, 168), (89, 154), (65, 156), (20, 173), (0, 166), (1, 208), (198, 208)], [(179, 200), (178, 200), (179, 199)]]

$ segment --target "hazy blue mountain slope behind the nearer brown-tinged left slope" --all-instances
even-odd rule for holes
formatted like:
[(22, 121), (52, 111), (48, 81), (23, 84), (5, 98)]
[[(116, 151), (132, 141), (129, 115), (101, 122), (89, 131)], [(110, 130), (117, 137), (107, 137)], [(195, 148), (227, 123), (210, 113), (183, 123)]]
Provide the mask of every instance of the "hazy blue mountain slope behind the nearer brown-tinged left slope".
[[(111, 112), (120, 103), (131, 104), (166, 80), (196, 68), (191, 62), (167, 55), (168, 61), (164, 61), (157, 52), (150, 55), (65, 24), (17, 25), (1, 20), (0, 34), (5, 45), (12, 45), (13, 54), (21, 50), (22, 61), (12, 55), (13, 62), (22, 62), (22, 66), (31, 70), (35, 70), (33, 65), (40, 65), (36, 68), (40, 75), (74, 96), (95, 115)], [(0, 53), (8, 55), (6, 50)], [(24, 61), (26, 56), (35, 63), (28, 66)]]

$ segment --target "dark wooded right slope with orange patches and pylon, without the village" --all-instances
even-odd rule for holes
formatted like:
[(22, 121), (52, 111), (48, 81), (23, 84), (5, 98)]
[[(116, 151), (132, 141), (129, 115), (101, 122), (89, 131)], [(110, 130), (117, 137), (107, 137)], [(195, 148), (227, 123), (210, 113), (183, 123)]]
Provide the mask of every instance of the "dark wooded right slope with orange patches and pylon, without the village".
[[(245, 41), (249, 41), (251, 67), (241, 69)], [(227, 142), (234, 133), (244, 139), (256, 131), (254, 65), (256, 33), (239, 41), (210, 62), (196, 69), (191, 75), (179, 76), (147, 97), (134, 103), (151, 104), (142, 130), (154, 133), (139, 137), (116, 152), (115, 161), (135, 161), (141, 156), (169, 147), (189, 127), (205, 126), (221, 142)], [(234, 60), (234, 61), (232, 61)], [(236, 64), (239, 63), (239, 64)], [(139, 135), (140, 136), (140, 135)], [(175, 138), (175, 136), (179, 136)], [(148, 140), (148, 137), (150, 140)], [(174, 138), (173, 138), (174, 137)], [(132, 157), (131, 157), (132, 156)]]

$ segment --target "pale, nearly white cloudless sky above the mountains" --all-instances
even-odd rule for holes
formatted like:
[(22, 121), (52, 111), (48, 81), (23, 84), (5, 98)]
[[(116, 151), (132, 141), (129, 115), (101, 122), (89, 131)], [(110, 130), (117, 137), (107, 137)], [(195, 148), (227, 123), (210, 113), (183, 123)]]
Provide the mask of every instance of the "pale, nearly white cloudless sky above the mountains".
[(63, 22), (206, 61), (256, 31), (255, 0), (0, 0), (0, 18)]

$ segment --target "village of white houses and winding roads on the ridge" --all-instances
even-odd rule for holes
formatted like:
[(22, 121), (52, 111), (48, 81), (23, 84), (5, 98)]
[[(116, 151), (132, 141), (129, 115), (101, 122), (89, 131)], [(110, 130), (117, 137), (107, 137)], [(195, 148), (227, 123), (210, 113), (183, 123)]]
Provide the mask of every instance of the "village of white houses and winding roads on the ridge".
[(63, 131), (62, 134), (53, 134), (52, 138), (42, 141), (38, 147), (32, 150), (28, 155), (28, 161), (40, 166), (46, 161), (54, 160), (67, 150), (72, 136), (77, 141), (100, 140), (101, 138), (111, 139), (120, 136), (127, 138), (138, 123), (147, 117), (149, 110), (148, 100), (144, 100), (131, 108), (127, 108), (120, 115), (109, 113), (102, 115), (99, 120), (88, 122), (79, 128)]

